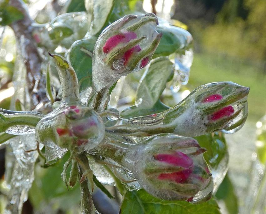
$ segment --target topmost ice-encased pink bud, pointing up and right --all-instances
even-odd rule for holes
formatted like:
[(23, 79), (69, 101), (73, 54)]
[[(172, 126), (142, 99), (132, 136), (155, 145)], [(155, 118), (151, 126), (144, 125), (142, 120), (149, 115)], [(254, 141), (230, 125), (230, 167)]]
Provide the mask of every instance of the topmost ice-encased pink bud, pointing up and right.
[(126, 15), (100, 34), (93, 52), (96, 91), (149, 63), (162, 36), (156, 31), (157, 24), (153, 13)]

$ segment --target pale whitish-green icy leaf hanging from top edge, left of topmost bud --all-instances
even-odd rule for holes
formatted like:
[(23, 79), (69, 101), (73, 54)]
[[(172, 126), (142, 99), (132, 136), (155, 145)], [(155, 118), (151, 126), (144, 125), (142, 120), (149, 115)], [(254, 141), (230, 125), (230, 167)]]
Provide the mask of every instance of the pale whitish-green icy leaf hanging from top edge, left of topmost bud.
[(113, 6), (114, 0), (85, 0), (90, 35), (97, 34), (104, 27)]

